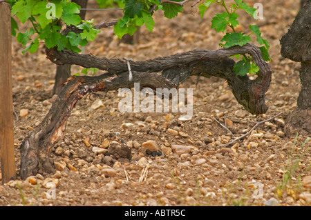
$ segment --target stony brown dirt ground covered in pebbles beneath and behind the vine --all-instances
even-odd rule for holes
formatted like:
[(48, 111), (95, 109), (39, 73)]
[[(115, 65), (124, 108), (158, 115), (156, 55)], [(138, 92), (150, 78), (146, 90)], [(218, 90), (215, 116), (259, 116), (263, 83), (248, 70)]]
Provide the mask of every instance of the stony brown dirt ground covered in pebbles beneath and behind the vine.
[[(95, 8), (94, 2), (88, 8)], [(247, 2), (252, 6), (257, 1)], [(218, 49), (222, 34), (211, 29), (211, 17), (220, 8), (211, 6), (201, 19), (190, 5), (171, 20), (156, 12), (153, 32), (141, 28), (138, 44), (118, 43), (113, 28), (104, 29), (86, 46), (86, 53), (139, 61), (196, 48)], [(252, 21), (263, 24), (261, 32), (270, 42), (273, 59), (266, 114), (245, 112), (227, 83), (218, 78), (201, 77), (197, 86), (196, 77), (182, 83), (182, 88), (194, 92), (194, 116), (189, 121), (178, 121), (180, 113), (172, 112), (122, 114), (117, 92), (85, 97), (50, 152), (55, 174), (0, 183), (0, 206), (310, 206), (311, 141), (303, 145), (307, 137), (299, 134), (295, 139), (283, 133), (301, 86), (300, 63), (281, 57), (279, 40), (298, 10), (296, 0), (265, 1), (264, 19)], [(100, 23), (120, 17), (120, 12), (88, 11), (86, 17)], [(238, 28), (246, 30), (247, 15), (241, 14), (239, 19)], [(30, 24), (20, 28), (27, 26)], [(23, 55), (21, 50), (13, 39), (17, 172), (21, 142), (44, 119), (56, 98), (51, 95), (55, 65), (46, 59), (43, 46), (31, 55)], [(73, 66), (72, 74), (81, 70)], [(22, 117), (24, 110), (26, 116)], [(278, 113), (245, 139), (221, 147)], [(147, 154), (142, 146), (146, 141), (156, 141), (161, 155)], [(130, 159), (109, 154), (111, 146), (121, 143), (129, 146)], [(182, 146), (183, 154), (176, 152), (176, 145)]]

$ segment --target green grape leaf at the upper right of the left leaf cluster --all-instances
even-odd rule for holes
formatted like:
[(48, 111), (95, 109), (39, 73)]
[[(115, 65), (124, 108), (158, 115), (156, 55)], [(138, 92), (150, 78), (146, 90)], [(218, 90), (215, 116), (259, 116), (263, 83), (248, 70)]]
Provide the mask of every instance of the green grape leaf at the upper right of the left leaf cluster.
[(73, 2), (63, 2), (63, 14), (62, 19), (66, 23), (66, 25), (77, 26), (81, 22), (81, 17), (79, 17), (79, 8), (81, 6), (77, 5)]

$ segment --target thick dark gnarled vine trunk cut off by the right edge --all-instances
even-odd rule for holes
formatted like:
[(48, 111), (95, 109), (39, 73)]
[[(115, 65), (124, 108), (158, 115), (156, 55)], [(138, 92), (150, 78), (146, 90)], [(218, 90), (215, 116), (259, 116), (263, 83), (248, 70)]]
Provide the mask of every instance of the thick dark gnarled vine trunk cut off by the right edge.
[(281, 39), (283, 57), (301, 62), (301, 92), (297, 107), (285, 125), (285, 133), (290, 135), (311, 134), (311, 1), (297, 14), (290, 30)]

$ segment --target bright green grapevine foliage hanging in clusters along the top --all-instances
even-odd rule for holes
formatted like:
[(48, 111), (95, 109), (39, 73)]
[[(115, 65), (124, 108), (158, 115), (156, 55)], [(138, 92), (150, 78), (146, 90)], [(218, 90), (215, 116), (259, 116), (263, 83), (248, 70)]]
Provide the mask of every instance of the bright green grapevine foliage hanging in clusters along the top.
[[(114, 26), (114, 32), (120, 39), (124, 34), (133, 35), (139, 26), (146, 26), (152, 32), (155, 21), (153, 13), (157, 10), (164, 12), (164, 17), (172, 19), (182, 12), (183, 6), (178, 4), (181, 0), (172, 0), (176, 3), (165, 0), (96, 0), (100, 8), (118, 7), (123, 8), (123, 17), (118, 19)], [(212, 4), (223, 6), (224, 12), (215, 14), (211, 19), (211, 28), (216, 32), (223, 32), (220, 46), (230, 48), (232, 46), (243, 46), (252, 41), (250, 35), (256, 37), (260, 44), (261, 53), (265, 61), (270, 61), (268, 50), (270, 45), (266, 39), (261, 37), (258, 26), (250, 25), (250, 34), (236, 32), (238, 26), (239, 11), (245, 11), (251, 17), (256, 17), (256, 9), (247, 5), (243, 0), (234, 0), (235, 3), (226, 3), (225, 0), (203, 0), (198, 5), (201, 17)], [(26, 32), (18, 32), (17, 22), (12, 18), (12, 35), (17, 37), (17, 41), (25, 46), (22, 51), (25, 53), (36, 52), (39, 43), (44, 42), (47, 48), (57, 48), (57, 50), (73, 50), (80, 52), (81, 46), (86, 46), (88, 41), (94, 41), (100, 30), (94, 28), (94, 20), (82, 21), (79, 17), (80, 6), (69, 0), (16, 0), (8, 1), (11, 5), (12, 15), (26, 23), (30, 21), (32, 27)], [(68, 32), (62, 34), (62, 29), (66, 26), (75, 26), (78, 32)], [(228, 31), (229, 30), (229, 31)], [(17, 33), (18, 32), (18, 33)], [(239, 59), (234, 70), (238, 75), (256, 74), (259, 68), (252, 62), (252, 57), (245, 54), (234, 56)], [(88, 70), (84, 71), (87, 74)]]

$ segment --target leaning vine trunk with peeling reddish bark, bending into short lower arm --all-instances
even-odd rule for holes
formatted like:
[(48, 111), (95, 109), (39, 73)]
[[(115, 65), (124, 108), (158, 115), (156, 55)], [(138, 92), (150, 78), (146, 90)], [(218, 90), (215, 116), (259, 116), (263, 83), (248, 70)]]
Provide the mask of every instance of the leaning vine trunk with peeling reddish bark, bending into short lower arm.
[(119, 88), (133, 88), (140, 82), (142, 88), (176, 88), (174, 83), (160, 74), (134, 72), (133, 80), (122, 75), (111, 80), (98, 77), (70, 77), (44, 120), (23, 140), (21, 144), (21, 167), (19, 175), (26, 179), (37, 172), (53, 172), (54, 166), (48, 157), (50, 148), (62, 137), (64, 125), (79, 99), (88, 92), (106, 92)]

